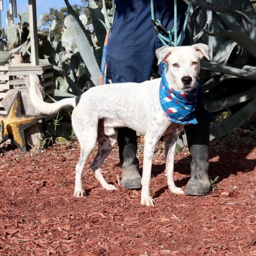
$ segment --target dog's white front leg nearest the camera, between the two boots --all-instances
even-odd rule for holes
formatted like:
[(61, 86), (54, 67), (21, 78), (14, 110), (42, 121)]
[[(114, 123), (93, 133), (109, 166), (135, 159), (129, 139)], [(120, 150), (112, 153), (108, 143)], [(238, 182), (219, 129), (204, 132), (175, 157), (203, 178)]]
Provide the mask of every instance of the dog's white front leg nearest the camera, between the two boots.
[(140, 203), (143, 205), (154, 205), (155, 200), (150, 196), (149, 185), (151, 180), (151, 167), (152, 167), (152, 159), (155, 152), (157, 140), (154, 140), (149, 135), (145, 136), (144, 142), (144, 159), (143, 159), (143, 172), (141, 179), (141, 201)]

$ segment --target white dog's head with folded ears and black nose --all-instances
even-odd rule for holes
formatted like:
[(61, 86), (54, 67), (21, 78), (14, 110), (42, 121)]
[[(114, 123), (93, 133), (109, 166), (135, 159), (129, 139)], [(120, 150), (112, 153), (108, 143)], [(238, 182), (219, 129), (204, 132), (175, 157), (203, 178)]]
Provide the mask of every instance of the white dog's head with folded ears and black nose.
[(163, 46), (156, 50), (158, 65), (166, 61), (165, 76), (176, 91), (189, 92), (196, 86), (203, 57), (210, 60), (210, 47), (206, 44), (192, 46)]

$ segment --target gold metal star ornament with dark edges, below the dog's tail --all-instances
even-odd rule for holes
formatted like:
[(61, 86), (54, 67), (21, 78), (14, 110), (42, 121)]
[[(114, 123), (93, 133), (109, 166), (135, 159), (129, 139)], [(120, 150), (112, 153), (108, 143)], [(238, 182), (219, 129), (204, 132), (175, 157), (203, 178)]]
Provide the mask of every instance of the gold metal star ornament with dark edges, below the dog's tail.
[(15, 146), (26, 153), (24, 130), (44, 117), (45, 116), (21, 115), (20, 91), (18, 91), (7, 114), (0, 114), (0, 120), (2, 120), (4, 124), (4, 140), (11, 139)]

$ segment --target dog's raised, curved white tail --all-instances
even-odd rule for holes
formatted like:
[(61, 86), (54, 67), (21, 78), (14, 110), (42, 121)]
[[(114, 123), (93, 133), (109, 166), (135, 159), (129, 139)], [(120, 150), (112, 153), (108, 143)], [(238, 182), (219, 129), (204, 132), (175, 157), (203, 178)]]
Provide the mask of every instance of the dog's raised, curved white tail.
[(67, 98), (53, 103), (47, 103), (43, 101), (43, 89), (39, 82), (39, 78), (36, 74), (29, 75), (29, 81), (26, 81), (26, 85), (29, 91), (30, 103), (33, 106), (33, 110), (36, 114), (52, 115), (58, 113), (60, 109), (66, 106), (76, 106), (76, 97)]

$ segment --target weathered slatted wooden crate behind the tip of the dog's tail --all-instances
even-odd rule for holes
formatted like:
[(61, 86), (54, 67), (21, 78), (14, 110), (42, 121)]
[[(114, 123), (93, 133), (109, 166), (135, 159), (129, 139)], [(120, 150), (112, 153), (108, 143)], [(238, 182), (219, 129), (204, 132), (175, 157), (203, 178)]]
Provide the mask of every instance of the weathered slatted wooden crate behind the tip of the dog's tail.
[[(0, 65), (0, 114), (6, 114), (2, 100), (13, 88), (26, 87), (25, 78), (30, 73), (36, 73), (42, 78), (45, 94), (53, 98), (53, 65), (42, 64), (32, 66), (29, 63)], [(47, 101), (47, 100), (46, 100)]]

